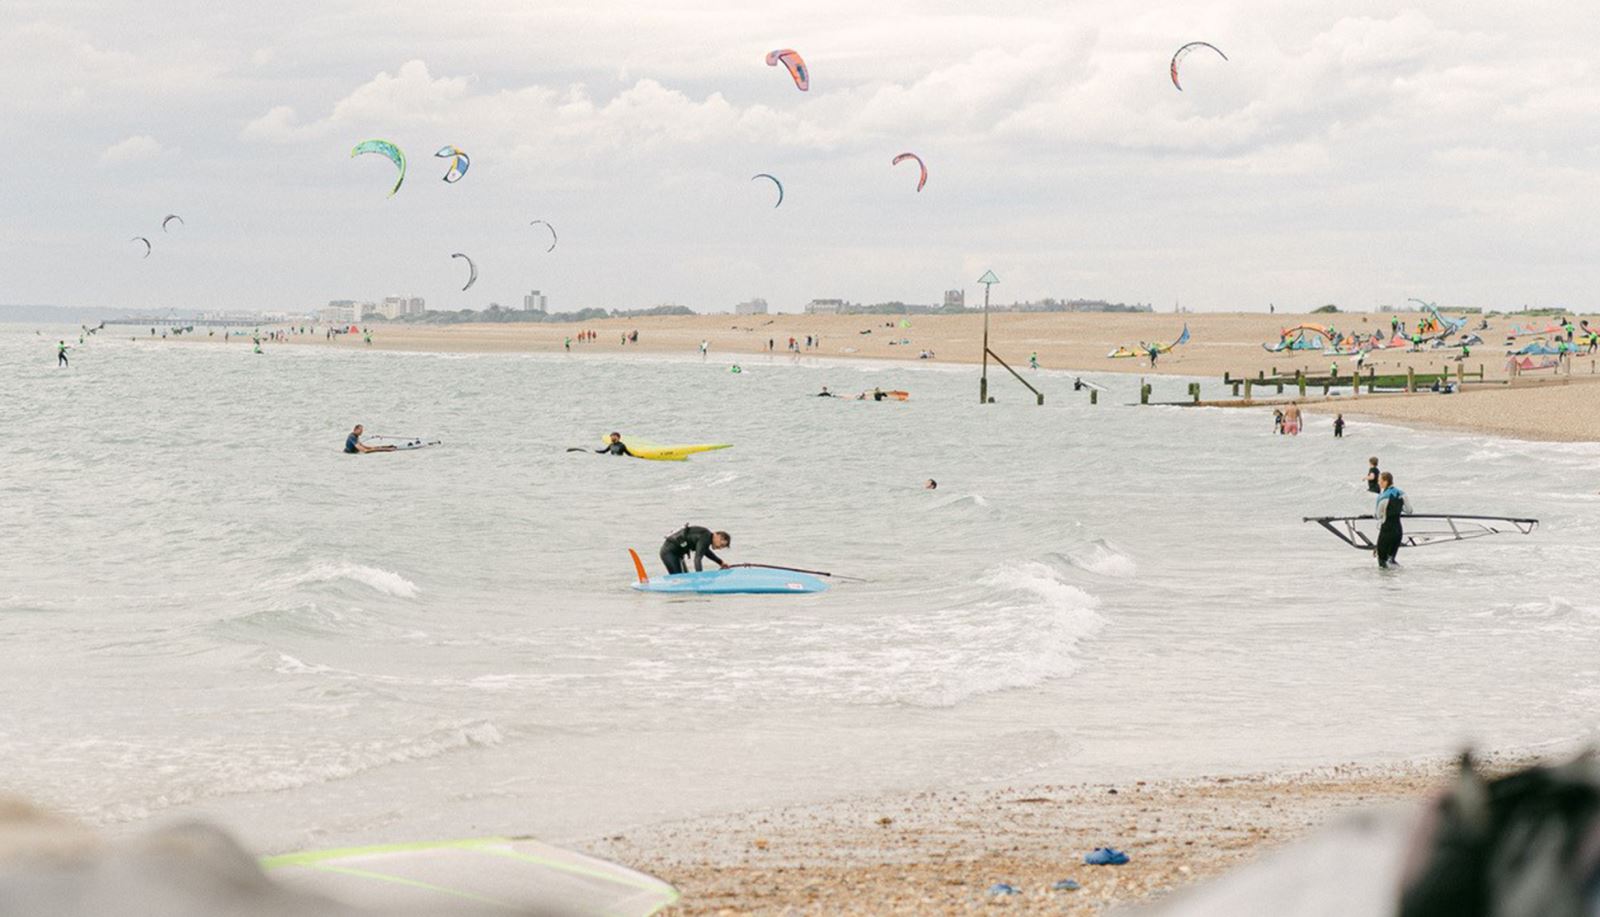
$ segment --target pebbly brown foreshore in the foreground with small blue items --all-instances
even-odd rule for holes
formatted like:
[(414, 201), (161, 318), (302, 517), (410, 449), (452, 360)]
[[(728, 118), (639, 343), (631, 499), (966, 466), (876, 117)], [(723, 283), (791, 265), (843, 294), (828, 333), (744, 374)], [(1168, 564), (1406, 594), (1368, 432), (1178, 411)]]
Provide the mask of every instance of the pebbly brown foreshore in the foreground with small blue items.
[[(1491, 763), (1507, 770), (1515, 762)], [(1450, 762), (920, 792), (666, 824), (589, 845), (683, 891), (674, 914), (1102, 914), (1357, 810), (1416, 807)], [(1115, 847), (1125, 866), (1085, 866)], [(1072, 879), (1078, 890), (1054, 885)], [(995, 895), (1006, 883), (1016, 895)]]

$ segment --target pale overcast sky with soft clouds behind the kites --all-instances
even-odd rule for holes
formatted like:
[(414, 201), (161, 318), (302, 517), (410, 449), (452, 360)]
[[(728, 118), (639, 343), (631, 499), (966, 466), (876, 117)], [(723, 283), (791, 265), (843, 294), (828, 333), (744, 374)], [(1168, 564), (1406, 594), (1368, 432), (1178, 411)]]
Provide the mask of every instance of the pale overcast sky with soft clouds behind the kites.
[[(1597, 37), (1571, 2), (6, 0), (0, 302), (798, 310), (992, 269), (997, 302), (1592, 309)], [(1179, 91), (1194, 40), (1227, 61)]]

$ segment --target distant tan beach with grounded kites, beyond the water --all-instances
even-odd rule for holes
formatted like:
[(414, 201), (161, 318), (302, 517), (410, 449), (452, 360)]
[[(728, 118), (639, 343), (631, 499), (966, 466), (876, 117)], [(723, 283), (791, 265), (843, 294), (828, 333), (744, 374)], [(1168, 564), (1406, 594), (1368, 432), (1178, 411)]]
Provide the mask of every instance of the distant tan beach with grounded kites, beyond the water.
[[(1414, 322), (1416, 314), (1400, 314)], [(1291, 374), (1296, 370), (1325, 374), (1331, 363), (1349, 373), (1350, 357), (1325, 357), (1318, 352), (1267, 352), (1262, 344), (1275, 341), (1283, 328), (1302, 323), (1333, 325), (1341, 330), (1370, 333), (1387, 323), (1387, 314), (1288, 315), (1288, 314), (994, 314), (990, 315), (990, 347), (1011, 366), (1026, 371), (1030, 354), (1038, 354), (1042, 368), (1133, 373), (1147, 376), (1155, 387), (1155, 400), (1178, 400), (1182, 389), (1162, 384), (1162, 378), (1250, 378), (1266, 373)], [(1306, 398), (1309, 414), (1341, 411), (1350, 416), (1379, 418), (1421, 427), (1485, 432), (1528, 440), (1584, 442), (1600, 440), (1600, 411), (1594, 410), (1600, 389), (1600, 362), (1581, 355), (1571, 362), (1570, 374), (1530, 373), (1509, 379), (1506, 371), (1506, 334), (1514, 325), (1539, 325), (1544, 320), (1517, 315), (1488, 318), (1490, 328), (1478, 331), (1483, 344), (1475, 346), (1464, 363), (1467, 371), (1483, 371), (1493, 384), (1469, 384), (1462, 392), (1440, 397), (1430, 392), (1362, 394), (1349, 390), (1334, 397)], [(1469, 326), (1477, 326), (1472, 317)], [(1182, 328), (1190, 342), (1160, 358), (1152, 370), (1149, 360), (1107, 358), (1120, 346), (1141, 341), (1171, 341)], [(498, 325), (410, 325), (373, 323), (374, 349), (488, 354), (488, 352), (560, 352), (579, 330), (595, 331), (594, 342), (573, 342), (576, 355), (605, 354), (683, 354), (699, 352), (709, 344), (709, 358), (717, 362), (792, 360), (786, 352), (789, 338), (802, 344), (803, 357), (918, 360), (931, 352), (938, 363), (978, 363), (982, 357), (982, 315), (917, 315), (910, 326), (899, 317), (885, 315), (698, 315), (614, 318), (586, 325), (498, 323)], [(638, 331), (638, 342), (624, 344), (621, 336)], [(803, 349), (806, 334), (819, 344)], [(216, 341), (195, 336), (190, 341)], [(358, 336), (346, 334), (331, 342), (323, 334), (290, 336), (296, 346), (363, 347)], [(766, 350), (773, 341), (776, 352)], [(1523, 342), (1526, 339), (1522, 339)], [(1378, 373), (1456, 373), (1461, 365), (1456, 349), (1378, 352), (1366, 366)], [(992, 368), (992, 390), (1005, 395), (1014, 386), (1003, 370)], [(1270, 389), (1254, 392), (1256, 402), (1283, 402), (1294, 397)], [(1315, 395), (1315, 394), (1314, 394)], [(1066, 397), (1056, 394), (1054, 397)]]

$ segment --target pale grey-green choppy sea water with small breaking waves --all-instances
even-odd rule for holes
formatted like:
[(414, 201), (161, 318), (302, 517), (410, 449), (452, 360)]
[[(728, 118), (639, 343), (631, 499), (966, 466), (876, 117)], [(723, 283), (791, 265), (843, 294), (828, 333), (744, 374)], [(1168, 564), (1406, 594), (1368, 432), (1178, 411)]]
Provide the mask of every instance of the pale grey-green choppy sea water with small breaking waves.
[[(1138, 378), (426, 355), (0, 326), (0, 786), (266, 850), (939, 786), (1566, 747), (1600, 725), (1600, 446), (1131, 406)], [(381, 334), (381, 331), (379, 331)], [(742, 363), (731, 373), (730, 363)], [(813, 397), (907, 389), (910, 400)], [(1184, 381), (1158, 379), (1176, 400)], [(346, 432), (443, 440), (346, 456)], [(730, 442), (592, 453), (621, 430)], [(1306, 515), (1531, 536), (1379, 571)], [(926, 479), (939, 488), (923, 490)], [(818, 595), (629, 589), (685, 523)], [(848, 576), (845, 579), (843, 576)]]

